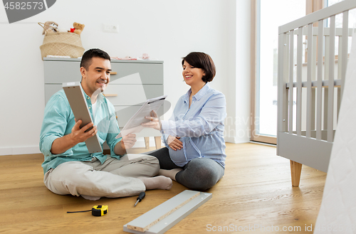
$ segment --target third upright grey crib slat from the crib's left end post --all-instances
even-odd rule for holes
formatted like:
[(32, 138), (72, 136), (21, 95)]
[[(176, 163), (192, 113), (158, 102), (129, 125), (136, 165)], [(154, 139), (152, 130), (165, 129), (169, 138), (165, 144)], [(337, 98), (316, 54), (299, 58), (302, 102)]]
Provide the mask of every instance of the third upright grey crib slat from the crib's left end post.
[(307, 66), (307, 110), (306, 110), (306, 132), (305, 137), (311, 137), (312, 118), (312, 72), (313, 72), (313, 23), (308, 24), (308, 66)]

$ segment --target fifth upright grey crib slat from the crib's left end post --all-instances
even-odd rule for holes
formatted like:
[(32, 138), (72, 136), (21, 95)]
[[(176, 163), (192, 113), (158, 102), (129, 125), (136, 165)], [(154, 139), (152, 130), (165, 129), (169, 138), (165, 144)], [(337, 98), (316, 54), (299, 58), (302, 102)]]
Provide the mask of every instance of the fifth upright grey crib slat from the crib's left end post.
[(328, 142), (334, 139), (334, 64), (335, 64), (335, 16), (330, 17), (329, 84), (328, 84)]

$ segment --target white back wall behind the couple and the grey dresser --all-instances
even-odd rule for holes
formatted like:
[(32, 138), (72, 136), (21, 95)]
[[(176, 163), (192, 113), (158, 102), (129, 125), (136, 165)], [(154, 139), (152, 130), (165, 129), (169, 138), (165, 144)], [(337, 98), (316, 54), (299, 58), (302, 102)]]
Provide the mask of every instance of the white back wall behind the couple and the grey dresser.
[[(44, 85), (39, 49), (43, 36), (37, 22), (56, 21), (64, 29), (74, 21), (84, 23), (85, 50), (102, 48), (118, 57), (148, 53), (164, 60), (164, 93), (173, 106), (189, 88), (182, 82), (182, 57), (192, 51), (209, 53), (217, 68), (211, 86), (226, 95), (228, 117), (246, 119), (250, 8), (240, 0), (61, 0), (41, 14), (9, 24), (0, 6), (0, 155), (39, 152)], [(103, 23), (117, 23), (119, 33), (104, 33)], [(248, 137), (236, 135), (248, 124), (230, 125), (235, 132), (227, 132), (226, 140), (248, 142)]]

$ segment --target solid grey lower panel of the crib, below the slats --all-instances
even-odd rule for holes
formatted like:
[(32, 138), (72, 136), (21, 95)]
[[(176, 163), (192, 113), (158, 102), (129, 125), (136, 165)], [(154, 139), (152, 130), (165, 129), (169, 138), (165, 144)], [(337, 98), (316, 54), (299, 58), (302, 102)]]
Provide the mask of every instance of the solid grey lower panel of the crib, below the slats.
[(333, 143), (280, 132), (278, 155), (300, 164), (328, 172)]

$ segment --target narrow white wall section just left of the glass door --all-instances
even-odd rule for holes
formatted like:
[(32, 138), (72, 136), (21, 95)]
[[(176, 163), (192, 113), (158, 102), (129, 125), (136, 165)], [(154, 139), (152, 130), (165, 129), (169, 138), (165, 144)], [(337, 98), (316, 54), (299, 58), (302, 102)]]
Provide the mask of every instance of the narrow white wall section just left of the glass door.
[(226, 107), (225, 140), (232, 143), (250, 141), (251, 91), (251, 1), (231, 1), (229, 8), (230, 31), (226, 55)]

